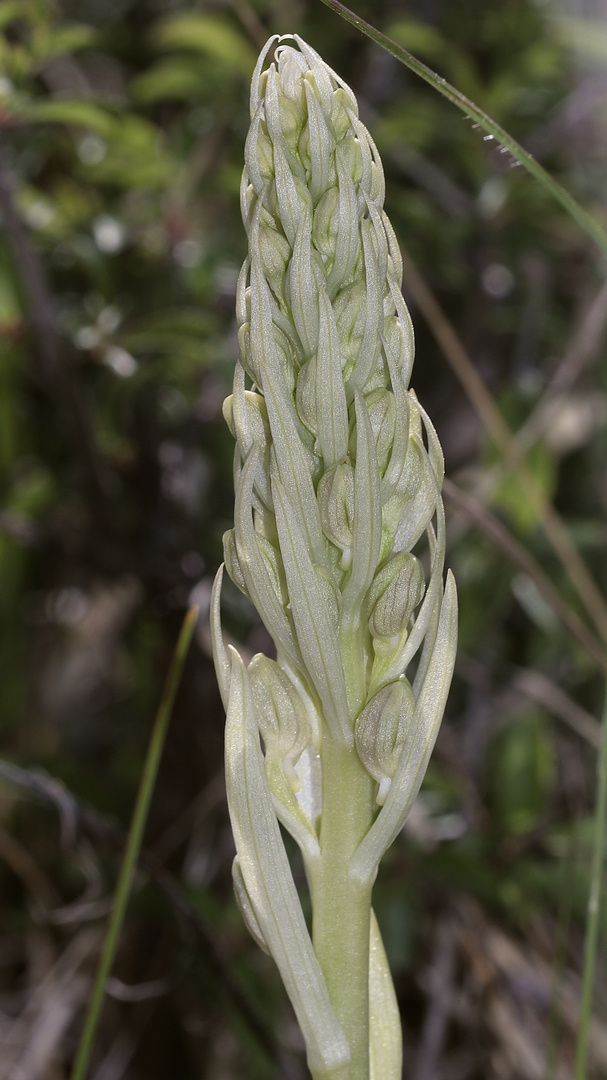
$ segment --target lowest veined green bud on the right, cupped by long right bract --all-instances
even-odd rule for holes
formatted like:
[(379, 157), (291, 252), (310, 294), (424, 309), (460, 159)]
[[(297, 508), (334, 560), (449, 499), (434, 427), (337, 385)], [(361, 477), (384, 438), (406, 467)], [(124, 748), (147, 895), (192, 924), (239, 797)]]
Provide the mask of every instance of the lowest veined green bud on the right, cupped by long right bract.
[(385, 686), (363, 708), (354, 728), (356, 753), (377, 780), (383, 806), (415, 712), (415, 698), (404, 675)]

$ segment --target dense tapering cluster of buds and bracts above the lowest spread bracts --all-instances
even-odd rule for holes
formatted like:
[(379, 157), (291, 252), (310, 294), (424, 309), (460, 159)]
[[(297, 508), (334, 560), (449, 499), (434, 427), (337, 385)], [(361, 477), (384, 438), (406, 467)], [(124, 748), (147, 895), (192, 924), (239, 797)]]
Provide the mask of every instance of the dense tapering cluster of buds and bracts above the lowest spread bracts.
[(296, 40), (266, 70), (262, 53), (252, 85), (241, 355), (224, 407), (237, 441), (225, 558), (279, 665), (348, 741), (369, 696), (410, 660), (424, 595), (412, 548), (424, 532), (432, 604), (418, 616), (416, 648), (432, 630), (443, 459), (408, 390), (413, 329), (377, 149), (352, 92)]

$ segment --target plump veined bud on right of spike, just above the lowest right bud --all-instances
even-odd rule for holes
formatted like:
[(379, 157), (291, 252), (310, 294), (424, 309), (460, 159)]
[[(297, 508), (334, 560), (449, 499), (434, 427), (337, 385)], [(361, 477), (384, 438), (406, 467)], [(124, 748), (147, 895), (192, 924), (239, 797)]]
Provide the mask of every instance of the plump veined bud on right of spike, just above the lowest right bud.
[(367, 596), (372, 634), (387, 639), (400, 634), (420, 603), (423, 588), (423, 570), (415, 555), (401, 551), (385, 563)]

